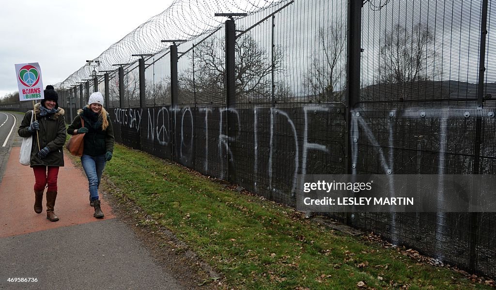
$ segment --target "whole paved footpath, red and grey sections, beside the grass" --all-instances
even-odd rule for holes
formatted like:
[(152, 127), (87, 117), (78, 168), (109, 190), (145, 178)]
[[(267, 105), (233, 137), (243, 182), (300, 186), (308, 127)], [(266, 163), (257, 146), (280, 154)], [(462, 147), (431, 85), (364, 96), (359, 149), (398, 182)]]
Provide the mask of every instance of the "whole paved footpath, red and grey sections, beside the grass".
[(0, 289), (183, 289), (105, 200), (105, 218), (93, 217), (86, 176), (67, 156), (55, 204), (60, 221), (47, 220), (45, 196), (36, 214), (34, 174), (19, 164), (19, 149), (12, 147), (0, 183)]

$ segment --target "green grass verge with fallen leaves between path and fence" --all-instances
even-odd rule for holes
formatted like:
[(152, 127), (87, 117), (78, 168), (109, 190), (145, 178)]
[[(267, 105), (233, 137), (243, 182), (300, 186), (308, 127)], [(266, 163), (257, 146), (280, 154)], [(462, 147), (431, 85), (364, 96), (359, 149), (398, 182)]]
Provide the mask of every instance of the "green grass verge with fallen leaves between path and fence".
[(151, 217), (144, 226), (173, 232), (224, 275), (225, 287), (492, 289), (121, 145), (105, 174), (119, 189), (117, 198), (132, 200)]

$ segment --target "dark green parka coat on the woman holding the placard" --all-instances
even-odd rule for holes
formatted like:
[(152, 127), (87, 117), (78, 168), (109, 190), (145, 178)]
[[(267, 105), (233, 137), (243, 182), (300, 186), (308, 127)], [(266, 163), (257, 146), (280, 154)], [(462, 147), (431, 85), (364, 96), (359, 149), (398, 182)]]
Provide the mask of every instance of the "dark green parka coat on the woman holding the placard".
[[(32, 133), (28, 131), (31, 124), (31, 111), (26, 112), (24, 115), (21, 125), (17, 130), (17, 134), (21, 137), (33, 136), (33, 146), (31, 147), (31, 167), (40, 165), (58, 167), (64, 166), (62, 147), (65, 143), (65, 137), (67, 136), (65, 133), (65, 111), (62, 108), (59, 108), (55, 114), (40, 116), (40, 106), (40, 103), (34, 106), (36, 120), (40, 123), (40, 130), (38, 131), (38, 134), (36, 134), (36, 132)], [(34, 120), (35, 119), (33, 117), (33, 121)], [(38, 141), (40, 142), (39, 147)], [(50, 149), (50, 153), (43, 159), (38, 158), (38, 152), (40, 149), (45, 147)]]

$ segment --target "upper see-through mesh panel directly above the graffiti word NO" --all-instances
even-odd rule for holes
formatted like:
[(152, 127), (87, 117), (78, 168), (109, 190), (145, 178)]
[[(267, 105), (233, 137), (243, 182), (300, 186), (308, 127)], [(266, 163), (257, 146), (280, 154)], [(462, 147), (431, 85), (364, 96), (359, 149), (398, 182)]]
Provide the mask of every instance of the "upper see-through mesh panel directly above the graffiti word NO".
[(170, 52), (159, 53), (146, 60), (146, 105), (155, 107), (171, 104), (171, 58)]

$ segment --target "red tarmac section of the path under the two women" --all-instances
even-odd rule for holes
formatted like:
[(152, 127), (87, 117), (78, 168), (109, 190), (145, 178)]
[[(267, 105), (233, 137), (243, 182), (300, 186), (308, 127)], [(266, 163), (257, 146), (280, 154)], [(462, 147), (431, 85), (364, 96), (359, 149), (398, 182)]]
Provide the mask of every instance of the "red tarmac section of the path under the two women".
[[(93, 217), (94, 209), (89, 205), (86, 175), (81, 169), (74, 167), (66, 152), (64, 152), (65, 166), (59, 171), (58, 195), (55, 203), (55, 214), (60, 220), (58, 222), (47, 220), (46, 194), (43, 196), (43, 212), (35, 213), (33, 170), (19, 163), (19, 150), (20, 147), (12, 147), (0, 183), (0, 238), (115, 218), (109, 204), (104, 200), (102, 200), (102, 211), (105, 217), (103, 219)], [(102, 199), (101, 195), (100, 199)]]

